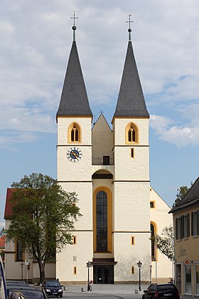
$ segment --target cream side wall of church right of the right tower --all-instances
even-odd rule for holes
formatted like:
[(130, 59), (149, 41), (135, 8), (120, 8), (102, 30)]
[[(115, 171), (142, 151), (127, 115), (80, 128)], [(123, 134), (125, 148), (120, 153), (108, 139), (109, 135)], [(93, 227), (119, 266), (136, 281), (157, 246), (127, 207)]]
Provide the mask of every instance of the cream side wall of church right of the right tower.
[[(150, 201), (154, 201), (155, 205), (155, 209), (150, 209), (151, 221), (156, 224), (157, 234), (161, 236), (162, 231), (166, 226), (173, 226), (172, 214), (168, 214), (171, 207), (163, 201), (161, 196), (159, 196), (152, 187), (150, 189)], [(152, 277), (155, 278), (157, 275), (158, 278), (171, 278), (172, 262), (160, 251), (157, 251), (157, 261), (157, 265), (155, 261), (151, 262)]]

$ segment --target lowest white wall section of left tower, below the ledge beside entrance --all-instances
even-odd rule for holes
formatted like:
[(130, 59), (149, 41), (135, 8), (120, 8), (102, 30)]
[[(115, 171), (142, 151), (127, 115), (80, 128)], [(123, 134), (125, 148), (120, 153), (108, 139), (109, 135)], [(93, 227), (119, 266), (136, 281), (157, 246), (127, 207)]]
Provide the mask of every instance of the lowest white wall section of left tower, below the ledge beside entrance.
[[(57, 253), (56, 277), (62, 282), (81, 283), (87, 281), (87, 261), (92, 261), (92, 232), (74, 231), (77, 236), (77, 245), (67, 245), (60, 253)], [(74, 266), (77, 274), (73, 273)], [(93, 279), (92, 267), (90, 268), (90, 280)]]

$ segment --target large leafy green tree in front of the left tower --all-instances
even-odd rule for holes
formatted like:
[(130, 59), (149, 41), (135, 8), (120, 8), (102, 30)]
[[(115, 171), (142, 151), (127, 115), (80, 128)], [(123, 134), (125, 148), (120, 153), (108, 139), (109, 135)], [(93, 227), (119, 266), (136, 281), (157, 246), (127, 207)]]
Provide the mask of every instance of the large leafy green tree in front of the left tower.
[(13, 215), (6, 240), (21, 242), (28, 256), (38, 262), (42, 283), (45, 263), (72, 242), (73, 224), (81, 216), (77, 194), (65, 192), (52, 177), (36, 173), (11, 187)]

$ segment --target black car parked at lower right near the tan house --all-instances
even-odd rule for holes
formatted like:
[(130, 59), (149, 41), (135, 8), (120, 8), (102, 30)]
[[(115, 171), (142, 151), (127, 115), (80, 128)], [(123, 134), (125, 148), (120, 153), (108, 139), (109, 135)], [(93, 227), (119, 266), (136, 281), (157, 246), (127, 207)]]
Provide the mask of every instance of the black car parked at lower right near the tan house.
[(180, 299), (180, 295), (176, 285), (173, 285), (173, 283), (152, 283), (147, 290), (144, 290), (141, 299), (152, 298)]

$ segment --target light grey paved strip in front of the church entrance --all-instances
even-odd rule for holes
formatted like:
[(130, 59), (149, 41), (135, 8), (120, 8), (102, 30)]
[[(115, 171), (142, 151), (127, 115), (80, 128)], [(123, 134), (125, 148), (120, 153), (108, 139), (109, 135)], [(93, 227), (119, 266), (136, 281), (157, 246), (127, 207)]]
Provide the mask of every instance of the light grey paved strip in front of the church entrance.
[[(139, 285), (136, 284), (92, 284), (92, 292), (95, 294), (117, 294), (117, 295), (141, 295), (143, 290), (146, 290), (147, 285), (141, 285), (141, 291), (139, 291)], [(90, 293), (87, 291), (87, 285), (63, 285), (63, 293)]]

